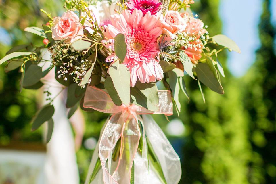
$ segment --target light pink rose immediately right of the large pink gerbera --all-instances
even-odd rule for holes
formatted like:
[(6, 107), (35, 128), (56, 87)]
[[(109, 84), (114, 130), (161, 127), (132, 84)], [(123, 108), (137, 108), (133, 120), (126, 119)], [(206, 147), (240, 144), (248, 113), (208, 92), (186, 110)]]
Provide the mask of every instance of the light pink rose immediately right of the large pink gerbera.
[[(162, 20), (163, 19), (163, 20)], [(164, 18), (161, 16), (161, 22), (163, 24), (163, 34), (175, 38), (175, 34), (185, 30), (187, 23), (182, 18), (178, 11), (167, 11)]]

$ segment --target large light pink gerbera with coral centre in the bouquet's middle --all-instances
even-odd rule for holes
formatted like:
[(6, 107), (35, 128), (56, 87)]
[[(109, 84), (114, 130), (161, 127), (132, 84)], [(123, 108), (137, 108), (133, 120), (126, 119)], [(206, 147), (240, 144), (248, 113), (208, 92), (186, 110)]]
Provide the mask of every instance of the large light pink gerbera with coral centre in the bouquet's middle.
[[(132, 14), (129, 10), (124, 10), (121, 14), (112, 15), (112, 25), (105, 26), (104, 35), (108, 39), (113, 39), (119, 33), (126, 36), (127, 55), (124, 64), (131, 73), (131, 87), (137, 78), (142, 83), (163, 78), (163, 70), (155, 59), (159, 52), (156, 39), (162, 33), (162, 24), (158, 19), (150, 12), (143, 16), (141, 10), (134, 9)], [(113, 61), (112, 57), (114, 55), (108, 57), (107, 61)]]

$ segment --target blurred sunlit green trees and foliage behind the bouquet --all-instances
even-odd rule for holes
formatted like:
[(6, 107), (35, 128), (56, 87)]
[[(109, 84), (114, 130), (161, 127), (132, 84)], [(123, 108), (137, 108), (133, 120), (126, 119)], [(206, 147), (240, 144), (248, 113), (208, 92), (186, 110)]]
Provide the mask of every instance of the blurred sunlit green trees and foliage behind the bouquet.
[[(192, 5), (194, 13), (209, 26), (211, 36), (222, 32), (219, 4), (219, 0), (200, 0)], [(61, 0), (1, 0), (0, 57), (14, 45), (42, 45), (40, 37), (24, 32), (24, 28), (47, 22), (39, 9), (58, 16), (62, 6)], [(276, 183), (276, 56), (270, 7), (271, 1), (263, 0), (258, 20), (261, 45), (246, 75), (232, 76), (226, 68), (227, 52), (219, 55), (226, 75), (222, 79), (225, 95), (202, 85), (204, 104), (197, 81), (186, 76), (191, 100), (188, 103), (181, 94), (180, 116), (169, 117), (170, 126), (164, 116), (154, 116), (181, 158), (181, 184)], [(37, 92), (24, 89), (19, 93), (19, 80), (17, 70), (5, 73), (4, 66), (0, 66), (0, 145), (17, 140), (42, 143), (41, 130), (30, 131), (37, 110)], [(84, 115), (83, 146), (77, 152), (80, 183), (84, 182), (93, 153), (86, 142), (98, 139), (108, 116), (99, 112)], [(174, 134), (174, 129), (181, 128), (178, 122), (183, 122), (183, 132)]]

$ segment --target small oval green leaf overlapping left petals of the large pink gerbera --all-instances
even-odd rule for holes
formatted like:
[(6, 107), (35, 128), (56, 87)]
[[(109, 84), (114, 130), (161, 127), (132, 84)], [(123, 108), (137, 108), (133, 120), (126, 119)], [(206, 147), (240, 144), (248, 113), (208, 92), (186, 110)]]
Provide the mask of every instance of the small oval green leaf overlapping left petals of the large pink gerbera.
[(124, 62), (124, 58), (127, 55), (127, 44), (125, 41), (125, 36), (122, 33), (119, 33), (114, 38), (114, 50), (116, 56), (120, 59), (121, 62)]

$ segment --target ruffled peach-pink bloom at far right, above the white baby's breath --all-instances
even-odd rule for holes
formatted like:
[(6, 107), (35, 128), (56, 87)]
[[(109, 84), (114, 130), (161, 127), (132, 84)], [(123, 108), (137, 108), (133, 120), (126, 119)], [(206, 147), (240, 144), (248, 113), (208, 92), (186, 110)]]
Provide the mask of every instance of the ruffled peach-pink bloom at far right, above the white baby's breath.
[(206, 33), (206, 30), (203, 29), (203, 26), (204, 24), (200, 19), (189, 16), (185, 32), (189, 36), (196, 36), (196, 38), (199, 39), (202, 34)]

